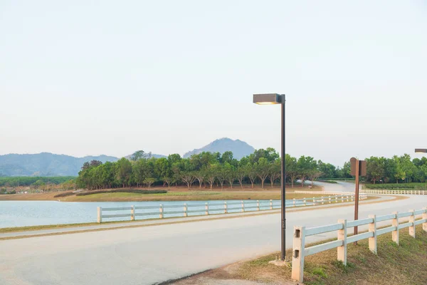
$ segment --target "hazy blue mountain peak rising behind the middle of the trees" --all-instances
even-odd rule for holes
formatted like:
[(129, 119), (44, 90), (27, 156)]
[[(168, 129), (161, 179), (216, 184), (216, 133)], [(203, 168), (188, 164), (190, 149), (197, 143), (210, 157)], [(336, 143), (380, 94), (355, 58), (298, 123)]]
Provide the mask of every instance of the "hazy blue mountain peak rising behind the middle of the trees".
[(255, 151), (255, 148), (248, 145), (246, 142), (241, 140), (231, 140), (230, 138), (221, 138), (219, 140), (214, 140), (209, 145), (205, 145), (196, 150), (191, 150), (186, 152), (184, 158), (191, 157), (191, 155), (199, 154), (200, 152), (233, 152), (233, 157), (240, 160), (246, 155), (250, 155)]

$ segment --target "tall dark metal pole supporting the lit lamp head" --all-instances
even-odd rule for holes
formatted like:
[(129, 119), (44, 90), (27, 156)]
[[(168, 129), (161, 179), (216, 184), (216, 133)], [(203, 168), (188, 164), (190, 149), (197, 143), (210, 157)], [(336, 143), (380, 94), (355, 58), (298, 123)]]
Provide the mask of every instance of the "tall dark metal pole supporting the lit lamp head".
[(285, 192), (285, 184), (286, 184), (286, 177), (285, 177), (285, 95), (282, 95), (282, 144), (281, 144), (281, 156), (282, 156), (282, 229), (281, 229), (281, 235), (282, 235), (282, 256), (281, 259), (285, 261), (286, 257), (286, 210), (285, 210), (285, 201), (286, 201), (286, 192)]

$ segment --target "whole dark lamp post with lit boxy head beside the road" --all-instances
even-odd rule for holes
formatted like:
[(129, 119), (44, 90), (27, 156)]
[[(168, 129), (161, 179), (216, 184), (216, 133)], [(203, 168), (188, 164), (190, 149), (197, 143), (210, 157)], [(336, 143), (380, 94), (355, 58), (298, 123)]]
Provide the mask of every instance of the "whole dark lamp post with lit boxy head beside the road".
[(280, 247), (281, 256), (280, 260), (285, 261), (285, 251), (286, 251), (286, 211), (285, 211), (285, 200), (286, 200), (286, 193), (285, 193), (285, 94), (253, 94), (253, 103), (258, 105), (274, 105), (274, 104), (280, 104), (282, 105), (282, 120), (281, 120), (281, 147), (280, 147), (280, 155), (282, 157), (282, 170), (281, 170), (281, 204), (282, 204), (282, 212), (281, 212), (281, 225), (280, 225), (280, 233), (281, 233), (281, 239), (282, 244)]

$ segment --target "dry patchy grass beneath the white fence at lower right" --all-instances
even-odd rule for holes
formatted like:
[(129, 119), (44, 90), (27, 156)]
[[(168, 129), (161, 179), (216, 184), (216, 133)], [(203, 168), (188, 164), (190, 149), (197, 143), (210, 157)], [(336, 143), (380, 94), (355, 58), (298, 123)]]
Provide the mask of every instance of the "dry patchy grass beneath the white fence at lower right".
[[(369, 252), (367, 239), (357, 246), (348, 245), (347, 266), (337, 261), (337, 249), (315, 254), (305, 259), (305, 284), (427, 284), (427, 233), (416, 227), (416, 239), (408, 229), (400, 231), (400, 245), (391, 241), (391, 233), (378, 237), (378, 255)], [(287, 284), (291, 269), (268, 264), (279, 253), (243, 262), (232, 275), (234, 278)], [(287, 252), (288, 257), (292, 252)]]

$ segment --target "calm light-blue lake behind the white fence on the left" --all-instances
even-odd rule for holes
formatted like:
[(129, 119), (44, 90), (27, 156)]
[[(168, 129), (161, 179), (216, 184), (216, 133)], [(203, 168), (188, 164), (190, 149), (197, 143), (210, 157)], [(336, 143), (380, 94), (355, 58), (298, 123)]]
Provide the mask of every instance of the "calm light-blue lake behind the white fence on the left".
[[(191, 210), (204, 211), (204, 204), (209, 204), (209, 209), (213, 214), (219, 213), (219, 209), (223, 209), (224, 202), (231, 203), (228, 212), (241, 212), (241, 202), (238, 200), (227, 200), (227, 201), (162, 201), (162, 202), (57, 202), (57, 201), (0, 201), (0, 228), (1, 227), (26, 227), (26, 226), (38, 226), (47, 224), (77, 224), (85, 222), (96, 222), (97, 219), (97, 207), (108, 208), (108, 207), (147, 207), (147, 206), (159, 206), (163, 204), (164, 217), (182, 217), (182, 214), (167, 214), (168, 211), (182, 210), (178, 208), (167, 209), (172, 205), (183, 206), (184, 203), (188, 204)], [(255, 201), (245, 200), (245, 204), (253, 206)], [(288, 201), (287, 201), (288, 202)], [(291, 201), (290, 201), (291, 202)], [(236, 204), (233, 204), (236, 203)], [(233, 204), (233, 205), (232, 205)], [(191, 207), (191, 205), (201, 205), (200, 207)], [(280, 209), (280, 200), (274, 200), (273, 206), (275, 209)], [(236, 209), (232, 209), (236, 208)], [(217, 211), (215, 211), (217, 209)], [(270, 201), (260, 201), (260, 209), (270, 209)], [(249, 209), (253, 210), (253, 209)], [(138, 209), (137, 213), (144, 212), (159, 212), (159, 209)], [(127, 214), (130, 211), (109, 211), (103, 212), (103, 214)], [(203, 214), (189, 213), (189, 216)], [(136, 219), (153, 219), (158, 218), (159, 215), (149, 215), (136, 217)], [(113, 218), (103, 219), (103, 222), (117, 221), (117, 220), (129, 220), (130, 218)]]

